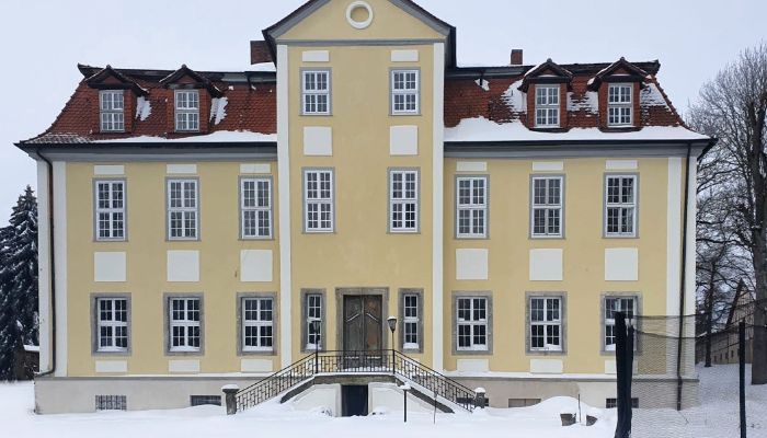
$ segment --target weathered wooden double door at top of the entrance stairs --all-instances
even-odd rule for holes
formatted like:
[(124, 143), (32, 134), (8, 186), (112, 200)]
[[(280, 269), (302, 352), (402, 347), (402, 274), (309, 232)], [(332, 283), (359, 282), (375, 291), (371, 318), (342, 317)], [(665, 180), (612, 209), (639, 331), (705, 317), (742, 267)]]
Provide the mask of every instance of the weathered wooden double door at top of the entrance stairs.
[[(356, 291), (359, 291), (358, 293)], [(365, 289), (343, 295), (343, 349), (379, 351), (384, 349), (384, 297)]]

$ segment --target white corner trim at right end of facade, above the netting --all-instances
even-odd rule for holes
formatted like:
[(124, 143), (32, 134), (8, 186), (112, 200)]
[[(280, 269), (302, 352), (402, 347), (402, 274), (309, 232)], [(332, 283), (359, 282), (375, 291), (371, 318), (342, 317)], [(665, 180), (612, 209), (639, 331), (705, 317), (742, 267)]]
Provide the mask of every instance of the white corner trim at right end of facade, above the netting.
[[(666, 200), (666, 314), (678, 315), (682, 267), (682, 159), (677, 157), (668, 159)], [(691, 254), (695, 254), (695, 251)]]

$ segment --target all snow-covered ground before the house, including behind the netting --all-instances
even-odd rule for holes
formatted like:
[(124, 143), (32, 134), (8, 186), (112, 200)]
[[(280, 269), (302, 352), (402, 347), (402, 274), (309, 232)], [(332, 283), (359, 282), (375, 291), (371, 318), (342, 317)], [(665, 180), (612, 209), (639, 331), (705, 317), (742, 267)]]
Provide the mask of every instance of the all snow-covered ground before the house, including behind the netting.
[[(699, 369), (701, 406), (677, 413), (672, 410), (636, 410), (637, 438), (736, 437), (737, 367)], [(749, 438), (767, 437), (767, 388), (747, 387)], [(294, 437), (356, 436), (365, 438), (467, 436), (608, 438), (615, 430), (615, 410), (582, 405), (583, 415), (599, 417), (596, 425), (562, 427), (560, 412), (575, 412), (573, 399), (550, 399), (536, 406), (488, 408), (474, 414), (408, 416), (402, 412), (355, 418), (332, 418), (319, 412), (297, 411), (290, 404), (265, 403), (244, 414), (226, 416), (222, 407), (202, 406), (174, 411), (102, 412), (76, 415), (35, 415), (32, 383), (0, 384), (0, 424), (3, 436), (89, 438), (105, 437)], [(318, 410), (319, 411), (319, 410)]]

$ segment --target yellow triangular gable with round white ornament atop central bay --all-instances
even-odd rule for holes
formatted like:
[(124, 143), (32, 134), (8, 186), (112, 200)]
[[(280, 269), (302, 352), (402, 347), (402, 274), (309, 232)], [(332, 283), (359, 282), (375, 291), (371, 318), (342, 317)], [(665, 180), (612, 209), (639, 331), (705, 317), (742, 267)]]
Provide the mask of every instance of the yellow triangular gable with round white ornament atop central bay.
[(312, 0), (264, 31), (276, 43), (439, 39), (454, 28), (410, 0)]

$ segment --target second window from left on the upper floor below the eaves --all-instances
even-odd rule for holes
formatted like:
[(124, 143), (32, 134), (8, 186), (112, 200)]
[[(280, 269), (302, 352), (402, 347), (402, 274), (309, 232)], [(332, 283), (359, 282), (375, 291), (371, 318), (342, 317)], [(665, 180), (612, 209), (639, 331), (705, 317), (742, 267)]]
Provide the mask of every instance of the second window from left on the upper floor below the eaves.
[(196, 180), (168, 180), (168, 237), (170, 240), (197, 239)]

